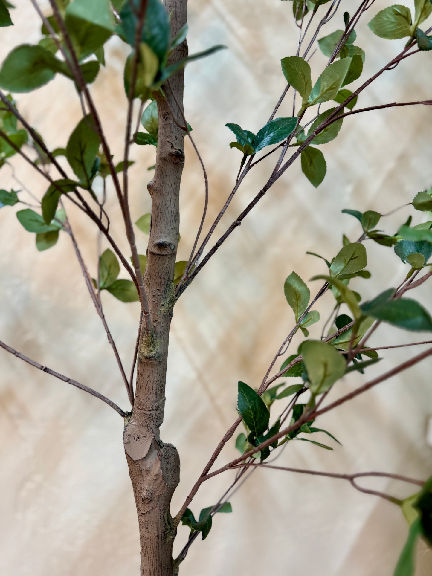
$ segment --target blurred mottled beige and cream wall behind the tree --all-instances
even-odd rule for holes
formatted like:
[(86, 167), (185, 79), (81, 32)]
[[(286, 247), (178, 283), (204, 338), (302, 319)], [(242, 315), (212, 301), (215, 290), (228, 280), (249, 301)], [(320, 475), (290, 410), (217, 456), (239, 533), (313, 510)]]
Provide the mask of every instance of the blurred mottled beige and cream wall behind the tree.
[[(37, 43), (40, 22), (28, 0), (16, 0), (15, 26), (2, 29), (4, 59), (13, 46)], [(367, 21), (389, 2), (376, 2), (357, 27), (356, 44), (366, 50), (362, 79), (396, 55), (403, 40), (374, 36)], [(411, 6), (412, 2), (408, 2)], [(345, 6), (346, 5), (346, 6)], [(344, 9), (321, 36), (343, 28)], [(48, 14), (48, 2), (41, 3)], [(185, 114), (209, 173), (210, 204), (204, 230), (213, 222), (232, 189), (241, 153), (231, 150), (233, 135), (224, 126), (238, 123), (257, 131), (286, 82), (280, 59), (295, 54), (291, 2), (281, 0), (190, 0), (190, 52), (213, 44), (228, 50), (192, 63), (185, 73)], [(92, 85), (105, 132), (116, 160), (121, 159), (126, 97), (123, 66), (127, 47), (107, 44), (107, 67)], [(422, 100), (432, 94), (432, 56), (404, 60), (382, 75), (359, 98), (366, 107), (393, 101)], [(317, 52), (313, 78), (325, 66)], [(353, 84), (357, 87), (359, 81)], [(351, 88), (351, 86), (350, 86)], [(56, 77), (30, 94), (17, 96), (18, 108), (48, 147), (65, 146), (81, 118), (73, 84)], [(290, 116), (291, 98), (278, 115)], [(325, 272), (325, 264), (306, 255), (331, 259), (342, 247), (342, 234), (354, 241), (358, 222), (343, 208), (385, 213), (411, 202), (432, 184), (431, 114), (427, 107), (395, 108), (354, 115), (339, 137), (321, 147), (327, 176), (315, 189), (295, 163), (271, 188), (175, 306), (170, 337), (165, 422), (162, 439), (177, 446), (181, 483), (172, 503), (176, 513), (222, 435), (236, 418), (237, 381), (259, 386), (275, 351), (293, 326), (283, 283), (291, 271), (305, 280)], [(203, 209), (204, 185), (199, 162), (185, 142), (181, 184), (181, 242), (178, 259), (188, 258)], [(153, 175), (150, 146), (134, 146), (130, 198), (135, 220), (150, 211), (146, 184)], [(1, 170), (1, 187), (22, 188), (41, 196), (45, 182), (21, 158)], [(274, 166), (264, 160), (244, 181), (218, 226), (228, 228), (266, 182)], [(120, 211), (109, 188), (107, 209), (112, 233), (129, 254)], [(96, 275), (97, 230), (67, 206), (79, 246)], [(126, 391), (93, 309), (73, 248), (66, 234), (46, 252), (37, 252), (34, 235), (18, 223), (14, 209), (0, 210), (0, 339), (54, 370), (92, 386), (128, 408)], [(382, 221), (386, 232), (404, 222), (409, 207)], [(415, 222), (422, 213), (413, 214)], [(140, 253), (147, 237), (135, 230)], [(372, 297), (398, 285), (407, 273), (392, 249), (367, 243), (369, 281), (353, 287)], [(126, 275), (122, 277), (126, 278)], [(309, 283), (314, 294), (319, 288)], [(430, 286), (418, 298), (430, 306)], [(105, 314), (130, 369), (139, 308), (103, 293)], [(317, 309), (328, 314), (330, 294)], [(319, 338), (321, 325), (311, 336)], [(397, 328), (378, 330), (372, 344), (423, 339)], [(295, 340), (293, 351), (300, 342)], [(390, 369), (414, 354), (391, 350), (367, 377)], [(377, 386), (366, 395), (324, 415), (319, 423), (342, 442), (333, 452), (292, 442), (278, 464), (332, 472), (385, 471), (426, 479), (432, 473), (432, 448), (426, 426), (432, 414), (430, 359)], [(123, 423), (105, 404), (0, 351), (0, 573), (4, 576), (126, 576), (139, 573), (138, 522), (123, 452)], [(279, 366), (276, 366), (279, 368)], [(357, 374), (338, 382), (332, 397), (362, 382)], [(326, 439), (316, 438), (327, 444)], [(234, 439), (218, 462), (236, 457)], [(191, 505), (195, 515), (213, 505), (232, 476), (203, 484)], [(365, 486), (404, 498), (410, 486), (376, 479)], [(181, 574), (234, 576), (391, 576), (408, 526), (400, 510), (357, 492), (343, 480), (279, 471), (256, 471), (231, 499), (233, 514), (218, 514), (210, 536), (196, 540)], [(179, 527), (178, 554), (188, 537)], [(418, 572), (432, 573), (432, 554), (420, 545)]]

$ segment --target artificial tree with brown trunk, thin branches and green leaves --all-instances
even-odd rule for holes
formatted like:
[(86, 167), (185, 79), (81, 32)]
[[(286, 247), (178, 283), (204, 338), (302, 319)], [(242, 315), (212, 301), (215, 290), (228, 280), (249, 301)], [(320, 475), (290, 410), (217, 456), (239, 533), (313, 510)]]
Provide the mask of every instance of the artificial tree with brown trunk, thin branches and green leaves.
[[(22, 225), (36, 235), (38, 251), (54, 247), (60, 234), (69, 236), (86, 289), (118, 362), (130, 406), (120, 408), (94, 389), (40, 365), (7, 344), (0, 342), (0, 346), (32, 366), (103, 400), (124, 419), (124, 450), (141, 538), (141, 574), (171, 576), (179, 573), (192, 543), (199, 535), (202, 539), (209, 535), (216, 513), (232, 511), (231, 492), (256, 468), (277, 468), (346, 480), (357, 490), (400, 506), (410, 527), (395, 576), (414, 574), (416, 541), (422, 538), (432, 544), (432, 478), (418, 480), (385, 471), (344, 475), (286, 468), (272, 462), (282, 450), (287, 447), (289, 450), (292, 441), (312, 442), (316, 449), (337, 449), (339, 440), (332, 431), (319, 427), (321, 415), (432, 355), (432, 347), (420, 347), (408, 361), (373, 379), (367, 378), (369, 366), (380, 361), (384, 348), (431, 344), (423, 341), (380, 347), (370, 340), (381, 323), (414, 332), (432, 331), (430, 314), (407, 294), (432, 275), (428, 264), (432, 256), (432, 222), (427, 221), (427, 213), (432, 211), (432, 188), (413, 191), (412, 215), (407, 221), (401, 219), (397, 230), (388, 230), (385, 214), (344, 209), (344, 213), (358, 220), (357, 240), (351, 242), (343, 236), (343, 245), (331, 260), (313, 253), (321, 262), (317, 261), (316, 274), (308, 284), (295, 271), (287, 270), (290, 274), (283, 289), (294, 313), (291, 331), (275, 351), (262, 382), (238, 382), (238, 419), (215, 446), (209, 461), (203, 463), (202, 474), (190, 487), (190, 494), (180, 510), (170, 508), (180, 479), (179, 456), (173, 445), (160, 438), (160, 426), (165, 401), (170, 402), (166, 363), (173, 308), (180, 297), (187, 298), (187, 293), (184, 294), (187, 287), (223, 242), (255, 209), (276, 180), (283, 178), (297, 158), (300, 157), (306, 178), (315, 187), (320, 185), (326, 173), (320, 146), (338, 136), (346, 116), (378, 108), (432, 104), (430, 100), (377, 103), (369, 108), (357, 105), (358, 97), (376, 78), (390, 73), (401, 60), (415, 58), (418, 52), (432, 49), (431, 28), (425, 24), (432, 13), (430, 0), (415, 0), (414, 12), (403, 5), (387, 6), (384, 1), (376, 2), (382, 3), (382, 9), (368, 19), (370, 30), (382, 41), (406, 39), (406, 45), (370, 78), (362, 78), (367, 47), (357, 46), (356, 26), (370, 14), (367, 11), (375, 0), (349, 3), (343, 0), (285, 0), (281, 4), (281, 10), (293, 13), (299, 33), (297, 52), (281, 61), (286, 88), (276, 100), (268, 122), (263, 123), (256, 134), (235, 122), (226, 124), (235, 137), (230, 146), (241, 152), (240, 166), (237, 175), (233, 175), (235, 185), (208, 232), (209, 185), (203, 158), (183, 111), (183, 70), (191, 60), (209, 56), (223, 47), (210, 46), (204, 52), (188, 55), (187, 0), (165, 0), (163, 4), (160, 0), (50, 0), (51, 11), (47, 14), (41, 12), (37, 0), (31, 2), (41, 20), (41, 39), (38, 44), (21, 44), (13, 48), (0, 70), (0, 166), (9, 164), (10, 158), (18, 154), (46, 179), (47, 187), (42, 198), (31, 198), (28, 188), (0, 190), (0, 207), (9, 211), (10, 218), (14, 218), (10, 207), (16, 207), (17, 226)], [(1, 26), (13, 25), (11, 9), (12, 5), (0, 0)], [(91, 86), (97, 82), (101, 66), (105, 65), (104, 44), (113, 35), (130, 47), (123, 78), (118, 79), (124, 84), (127, 109), (122, 158), (114, 158), (110, 151)], [(327, 65), (319, 75), (314, 75), (309, 60), (317, 49), (327, 57)], [(70, 135), (65, 135), (65, 147), (50, 150), (44, 143), (43, 134), (39, 134), (20, 113), (19, 94), (37, 90), (53, 81), (56, 74), (70, 79), (71, 88), (81, 102), (82, 119)], [(399, 74), (399, 70), (393, 74)], [(287, 98), (292, 99), (292, 116), (280, 118), (278, 108)], [(190, 247), (189, 259), (176, 262), (185, 137), (190, 139), (202, 166), (204, 209), (202, 219), (196, 222), (196, 238)], [(150, 167), (154, 173), (147, 185), (151, 213), (139, 215), (130, 210), (128, 168), (134, 162), (131, 160), (134, 147), (143, 145), (154, 147), (156, 161)], [(238, 152), (233, 150), (233, 154)], [(266, 184), (256, 190), (255, 197), (226, 232), (214, 238), (214, 230), (233, 196), (243, 181), (248, 181), (247, 176), (257, 162), (268, 156), (274, 158), (274, 169)], [(142, 166), (143, 171), (147, 169)], [(253, 180), (249, 181), (251, 185)], [(111, 191), (121, 209), (129, 253), (120, 250), (111, 232), (105, 206)], [(100, 231), (98, 263), (84, 262), (67, 217), (70, 203), (81, 210), (87, 226)], [(416, 223), (418, 221), (421, 222)], [(340, 222), (342, 228), (343, 220)], [(146, 255), (138, 253), (135, 234), (149, 236)], [(405, 263), (406, 270), (398, 286), (382, 286), (380, 294), (363, 301), (361, 294), (354, 290), (358, 290), (356, 279), (370, 277), (366, 270), (367, 251), (373, 251), (376, 243), (388, 249), (389, 258), (399, 258)], [(121, 269), (127, 279), (119, 278)], [(89, 270), (94, 270), (94, 274)], [(103, 290), (111, 294), (109, 298), (126, 303), (139, 301), (141, 306), (137, 342), (130, 351), (130, 377), (109, 331), (101, 298)], [(316, 294), (312, 300), (311, 290)], [(320, 319), (314, 305), (324, 295), (334, 299), (334, 306), (328, 318)], [(319, 322), (320, 329), (312, 328), (314, 336), (311, 337), (309, 329)], [(289, 347), (298, 331), (303, 339), (293, 352)], [(332, 399), (338, 381), (350, 378), (352, 372), (363, 375), (365, 383), (351, 393)], [(240, 454), (218, 468), (214, 466), (215, 461), (228, 442), (235, 443)], [(194, 496), (198, 490), (205, 490), (206, 480), (232, 471), (235, 474), (232, 484), (219, 501), (209, 502), (209, 506), (199, 513), (192, 511)], [(401, 501), (362, 486), (362, 478), (378, 476), (412, 484), (411, 493), (414, 494)], [(236, 513), (241, 514), (241, 510)], [(173, 559), (173, 540), (181, 525), (190, 529), (190, 535), (180, 555)], [(185, 533), (183, 529), (183, 536)]]

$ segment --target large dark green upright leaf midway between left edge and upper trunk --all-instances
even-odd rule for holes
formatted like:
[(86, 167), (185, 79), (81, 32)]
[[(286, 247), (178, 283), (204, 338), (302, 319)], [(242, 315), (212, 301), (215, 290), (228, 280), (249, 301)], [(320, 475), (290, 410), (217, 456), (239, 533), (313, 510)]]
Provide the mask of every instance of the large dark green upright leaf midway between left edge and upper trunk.
[(86, 188), (90, 188), (92, 184), (93, 166), (100, 142), (90, 115), (80, 120), (67, 142), (67, 161), (81, 185)]

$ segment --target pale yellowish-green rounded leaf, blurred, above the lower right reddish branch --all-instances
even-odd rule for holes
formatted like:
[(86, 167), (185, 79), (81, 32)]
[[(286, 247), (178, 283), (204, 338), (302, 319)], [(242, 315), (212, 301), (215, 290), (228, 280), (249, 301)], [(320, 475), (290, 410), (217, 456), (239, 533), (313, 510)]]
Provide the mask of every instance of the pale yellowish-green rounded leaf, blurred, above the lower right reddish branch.
[(327, 392), (345, 373), (343, 355), (326, 342), (306, 340), (301, 353), (308, 372), (309, 389), (314, 395)]

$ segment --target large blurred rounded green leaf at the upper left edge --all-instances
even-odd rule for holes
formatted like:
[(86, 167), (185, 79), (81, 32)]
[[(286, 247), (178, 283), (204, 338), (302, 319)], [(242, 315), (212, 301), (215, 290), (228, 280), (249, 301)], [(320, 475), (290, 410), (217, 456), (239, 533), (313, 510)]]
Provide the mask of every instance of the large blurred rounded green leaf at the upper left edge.
[(49, 50), (22, 44), (6, 56), (0, 70), (0, 86), (10, 92), (31, 92), (48, 84), (60, 64)]

